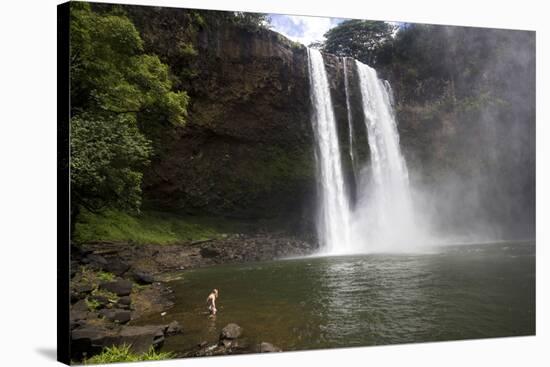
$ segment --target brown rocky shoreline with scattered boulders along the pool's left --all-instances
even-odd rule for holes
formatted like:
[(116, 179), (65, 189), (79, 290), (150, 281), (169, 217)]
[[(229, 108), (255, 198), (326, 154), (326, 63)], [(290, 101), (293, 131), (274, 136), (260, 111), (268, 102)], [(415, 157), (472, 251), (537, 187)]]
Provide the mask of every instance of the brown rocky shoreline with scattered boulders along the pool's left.
[[(71, 247), (71, 358), (81, 361), (113, 345), (134, 353), (159, 349), (166, 337), (185, 332), (177, 321), (134, 326), (145, 315), (173, 307), (164, 275), (217, 264), (302, 256), (311, 242), (285, 235), (224, 235), (174, 245), (97, 242)], [(227, 325), (218, 344), (182, 346), (179, 357), (280, 351), (270, 343), (250, 345), (241, 328)]]

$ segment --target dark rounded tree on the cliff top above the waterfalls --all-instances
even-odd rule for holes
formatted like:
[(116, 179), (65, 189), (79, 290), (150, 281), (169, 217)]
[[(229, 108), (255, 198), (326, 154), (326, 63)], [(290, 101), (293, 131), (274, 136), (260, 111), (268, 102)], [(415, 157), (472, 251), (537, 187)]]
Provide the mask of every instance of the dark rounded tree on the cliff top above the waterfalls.
[(375, 65), (377, 54), (392, 40), (395, 26), (372, 20), (346, 20), (325, 33), (322, 50)]

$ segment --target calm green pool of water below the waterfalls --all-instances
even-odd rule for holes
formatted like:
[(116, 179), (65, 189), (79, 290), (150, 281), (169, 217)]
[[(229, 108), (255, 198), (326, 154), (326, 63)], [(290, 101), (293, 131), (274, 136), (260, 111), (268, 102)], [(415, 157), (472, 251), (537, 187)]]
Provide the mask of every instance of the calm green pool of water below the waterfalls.
[[(215, 342), (229, 322), (284, 350), (535, 333), (535, 244), (452, 246), (414, 255), (302, 258), (187, 271), (164, 317), (184, 334), (164, 350)], [(220, 290), (219, 313), (205, 298)]]

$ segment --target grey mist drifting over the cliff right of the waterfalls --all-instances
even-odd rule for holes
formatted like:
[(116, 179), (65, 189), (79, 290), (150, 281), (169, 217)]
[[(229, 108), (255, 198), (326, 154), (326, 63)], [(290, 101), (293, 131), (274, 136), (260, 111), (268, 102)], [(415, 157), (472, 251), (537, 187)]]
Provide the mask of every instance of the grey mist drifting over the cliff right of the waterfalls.
[(534, 32), (433, 29), (447, 45), (449, 105), (418, 123), (410, 109), (440, 99), (397, 98), (416, 218), (432, 244), (534, 239)]

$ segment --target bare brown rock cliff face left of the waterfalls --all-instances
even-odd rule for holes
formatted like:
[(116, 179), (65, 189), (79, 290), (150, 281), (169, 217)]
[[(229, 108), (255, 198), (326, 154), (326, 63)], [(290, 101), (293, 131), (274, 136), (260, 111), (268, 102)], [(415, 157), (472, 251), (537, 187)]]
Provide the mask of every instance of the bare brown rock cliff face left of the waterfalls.
[(307, 50), (275, 32), (231, 26), (199, 32), (196, 48), (188, 124), (161, 136), (162, 154), (144, 178), (146, 204), (310, 226)]

